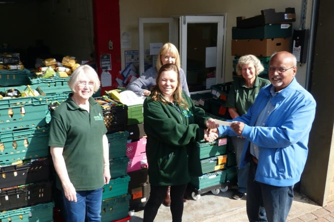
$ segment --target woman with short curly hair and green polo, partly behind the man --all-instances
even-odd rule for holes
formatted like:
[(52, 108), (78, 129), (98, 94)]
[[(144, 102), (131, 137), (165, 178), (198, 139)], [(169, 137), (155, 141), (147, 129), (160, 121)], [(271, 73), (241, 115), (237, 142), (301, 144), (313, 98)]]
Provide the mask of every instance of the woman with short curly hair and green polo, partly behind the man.
[[(237, 75), (227, 95), (225, 106), (228, 107), (232, 119), (247, 113), (248, 108), (254, 103), (260, 89), (270, 84), (270, 81), (258, 76), (264, 70), (261, 61), (255, 55), (244, 55), (239, 58), (236, 66)], [(237, 165), (239, 166), (245, 139), (241, 137), (231, 137), (234, 150), (236, 152)], [(246, 194), (246, 181), (249, 166), (238, 171), (238, 191), (232, 198), (241, 200)]]

